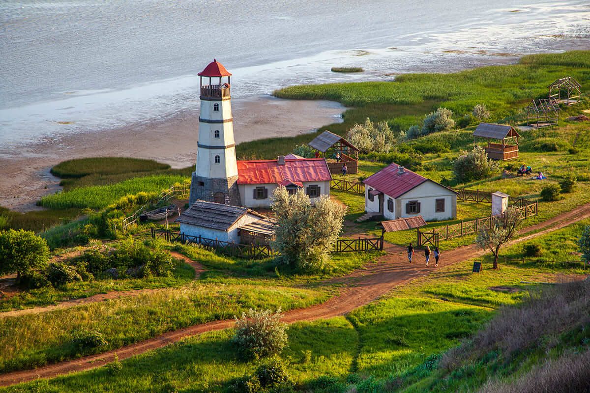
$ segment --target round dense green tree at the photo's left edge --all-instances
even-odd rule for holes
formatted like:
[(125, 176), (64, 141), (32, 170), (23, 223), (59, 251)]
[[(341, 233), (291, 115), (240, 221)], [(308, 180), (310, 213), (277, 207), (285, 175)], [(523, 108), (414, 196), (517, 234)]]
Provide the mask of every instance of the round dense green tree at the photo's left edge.
[(47, 265), (49, 247), (30, 230), (9, 229), (0, 232), (0, 274), (17, 273), (17, 279)]

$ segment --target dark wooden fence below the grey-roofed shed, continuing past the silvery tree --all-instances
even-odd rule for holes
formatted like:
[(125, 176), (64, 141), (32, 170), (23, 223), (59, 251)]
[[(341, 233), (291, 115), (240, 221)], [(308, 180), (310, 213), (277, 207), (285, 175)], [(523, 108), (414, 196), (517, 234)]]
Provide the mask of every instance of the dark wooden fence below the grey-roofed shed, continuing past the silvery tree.
[[(180, 232), (172, 232), (166, 229), (152, 228), (152, 237), (161, 237), (167, 242), (182, 242), (211, 247), (225, 255), (261, 259), (277, 256), (278, 253), (268, 245), (242, 245), (234, 242), (224, 242), (217, 239), (207, 239), (202, 236), (190, 236)], [(339, 239), (336, 241), (333, 253), (336, 252), (369, 252), (383, 250), (383, 237), (372, 239)]]

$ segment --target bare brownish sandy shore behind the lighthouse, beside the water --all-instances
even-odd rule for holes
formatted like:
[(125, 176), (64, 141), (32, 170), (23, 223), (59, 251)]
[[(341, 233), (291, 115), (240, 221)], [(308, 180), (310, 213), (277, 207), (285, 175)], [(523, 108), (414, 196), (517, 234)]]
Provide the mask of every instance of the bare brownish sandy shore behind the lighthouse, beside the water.
[[(235, 141), (309, 133), (342, 121), (343, 111), (331, 101), (233, 100)], [(197, 107), (113, 130), (72, 134), (17, 149), (0, 147), (0, 206), (21, 212), (40, 209), (35, 202), (60, 189), (51, 167), (71, 158), (121, 156), (149, 158), (173, 168), (194, 165), (198, 129)]]

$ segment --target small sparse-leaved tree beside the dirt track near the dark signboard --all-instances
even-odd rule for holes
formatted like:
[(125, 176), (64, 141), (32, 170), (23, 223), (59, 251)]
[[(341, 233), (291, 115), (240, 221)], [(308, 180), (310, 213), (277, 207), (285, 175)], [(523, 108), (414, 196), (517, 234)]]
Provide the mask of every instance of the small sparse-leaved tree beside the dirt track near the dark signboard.
[(482, 228), (476, 237), (476, 245), (488, 249), (494, 255), (494, 269), (498, 268), (500, 247), (516, 234), (520, 224), (520, 213), (514, 207), (493, 217), (490, 228)]

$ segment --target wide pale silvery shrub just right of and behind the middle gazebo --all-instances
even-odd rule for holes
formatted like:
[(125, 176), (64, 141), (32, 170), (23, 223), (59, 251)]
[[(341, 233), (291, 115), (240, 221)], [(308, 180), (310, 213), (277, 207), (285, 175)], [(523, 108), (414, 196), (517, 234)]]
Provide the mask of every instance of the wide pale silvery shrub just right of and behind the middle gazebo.
[(350, 143), (364, 153), (369, 153), (369, 151), (387, 153), (397, 141), (386, 121), (381, 121), (375, 126), (369, 118), (366, 118), (365, 124), (352, 126), (348, 131), (347, 138)]

